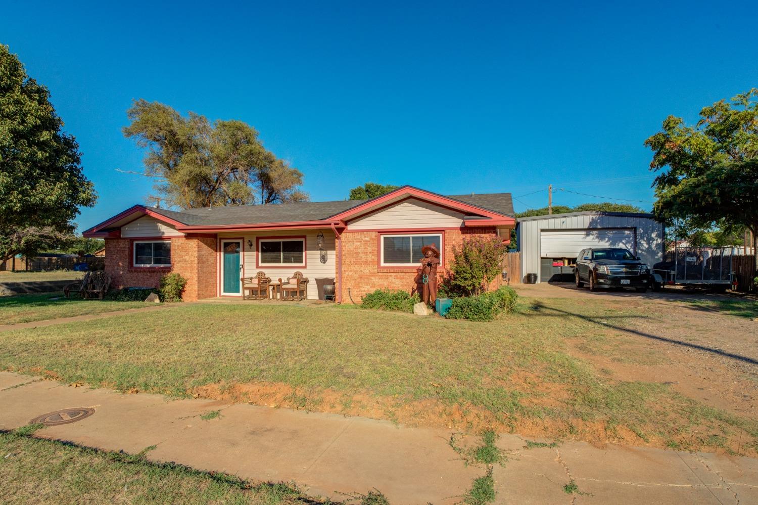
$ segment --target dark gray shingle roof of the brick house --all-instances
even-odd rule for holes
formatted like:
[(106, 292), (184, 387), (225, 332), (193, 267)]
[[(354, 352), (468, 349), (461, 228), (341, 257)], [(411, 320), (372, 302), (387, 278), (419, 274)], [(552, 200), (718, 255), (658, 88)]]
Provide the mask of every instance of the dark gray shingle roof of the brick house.
[[(456, 195), (449, 198), (459, 202), (477, 205), (483, 209), (513, 215), (510, 193), (490, 193), (482, 195)], [(300, 221), (320, 221), (344, 212), (368, 200), (338, 200), (336, 202), (277, 203), (271, 205), (233, 205), (171, 211), (150, 209), (153, 212), (193, 226), (220, 226), (224, 224), (262, 224)]]

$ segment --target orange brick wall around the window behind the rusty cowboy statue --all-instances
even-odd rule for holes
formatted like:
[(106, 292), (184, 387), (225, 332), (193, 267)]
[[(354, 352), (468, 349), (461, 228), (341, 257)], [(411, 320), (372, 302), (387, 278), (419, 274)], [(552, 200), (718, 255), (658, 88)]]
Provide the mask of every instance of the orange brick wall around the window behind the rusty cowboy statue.
[[(494, 227), (462, 228), (443, 232), (443, 262), (442, 268), (437, 269), (438, 281), (449, 267), (453, 259), (453, 247), (460, 246), (463, 238), (472, 235), (494, 236)], [(360, 303), (361, 296), (379, 288), (392, 290), (415, 289), (413, 281), (416, 275), (413, 268), (379, 268), (379, 234), (376, 231), (351, 231), (342, 234), (342, 285), (338, 286), (343, 303), (350, 303), (350, 296), (355, 303)], [(498, 276), (490, 285), (496, 289), (501, 284)], [(350, 289), (348, 294), (347, 290)]]

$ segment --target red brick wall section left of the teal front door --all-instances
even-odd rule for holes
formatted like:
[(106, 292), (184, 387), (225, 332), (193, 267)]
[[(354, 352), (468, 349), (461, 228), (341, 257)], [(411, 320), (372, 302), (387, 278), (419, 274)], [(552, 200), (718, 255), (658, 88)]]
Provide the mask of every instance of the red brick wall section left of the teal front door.
[(183, 299), (194, 301), (216, 296), (217, 263), (215, 237), (172, 237), (171, 268), (133, 268), (131, 240), (105, 239), (105, 271), (111, 287), (158, 287), (170, 271), (187, 280)]

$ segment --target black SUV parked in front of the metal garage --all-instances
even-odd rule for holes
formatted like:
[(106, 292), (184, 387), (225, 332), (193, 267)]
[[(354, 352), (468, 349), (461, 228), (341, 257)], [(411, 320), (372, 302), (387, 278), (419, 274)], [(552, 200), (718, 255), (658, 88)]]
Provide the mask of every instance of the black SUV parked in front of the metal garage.
[(574, 269), (576, 287), (590, 284), (590, 291), (600, 287), (634, 287), (647, 291), (650, 274), (647, 265), (627, 249), (583, 249)]

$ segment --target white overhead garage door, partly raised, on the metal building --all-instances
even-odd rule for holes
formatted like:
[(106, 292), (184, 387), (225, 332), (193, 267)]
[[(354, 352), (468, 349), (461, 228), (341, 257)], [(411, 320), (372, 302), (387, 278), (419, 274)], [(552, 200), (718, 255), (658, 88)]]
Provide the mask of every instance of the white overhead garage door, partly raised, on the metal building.
[(634, 230), (622, 228), (540, 231), (540, 257), (576, 258), (587, 247), (623, 247), (634, 252)]

